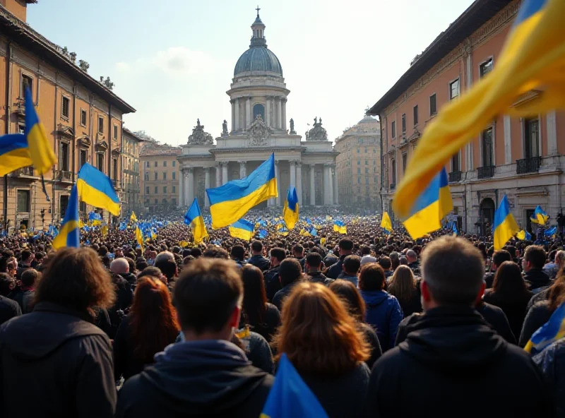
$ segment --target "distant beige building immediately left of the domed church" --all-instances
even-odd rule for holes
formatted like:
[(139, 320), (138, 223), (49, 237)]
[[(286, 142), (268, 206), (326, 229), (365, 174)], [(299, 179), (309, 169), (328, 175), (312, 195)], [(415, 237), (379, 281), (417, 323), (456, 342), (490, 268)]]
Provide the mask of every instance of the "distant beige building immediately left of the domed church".
[(141, 198), (143, 213), (176, 208), (179, 198), (181, 149), (145, 141), (139, 153), (141, 163)]

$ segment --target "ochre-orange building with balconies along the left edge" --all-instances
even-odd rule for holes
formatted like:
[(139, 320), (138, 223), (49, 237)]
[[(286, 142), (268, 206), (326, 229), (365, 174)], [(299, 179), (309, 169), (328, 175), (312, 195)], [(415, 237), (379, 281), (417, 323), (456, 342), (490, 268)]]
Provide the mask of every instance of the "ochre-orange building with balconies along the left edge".
[[(87, 62), (77, 62), (74, 52), (25, 23), (27, 6), (33, 3), (37, 1), (0, 0), (0, 134), (23, 133), (29, 88), (57, 163), (43, 179), (33, 167), (4, 177), (0, 222), (8, 232), (20, 225), (47, 229), (61, 220), (85, 162), (111, 177), (123, 198), (122, 115), (135, 112), (112, 91), (109, 78), (95, 80)], [(80, 209), (92, 208), (81, 204)]]

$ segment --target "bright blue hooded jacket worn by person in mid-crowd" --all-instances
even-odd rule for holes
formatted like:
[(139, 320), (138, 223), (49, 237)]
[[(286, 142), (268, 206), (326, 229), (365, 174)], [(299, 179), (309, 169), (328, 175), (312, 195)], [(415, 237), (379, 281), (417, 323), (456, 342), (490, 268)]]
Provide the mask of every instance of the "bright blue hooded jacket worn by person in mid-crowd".
[(381, 350), (386, 352), (394, 347), (398, 326), (404, 318), (398, 299), (384, 290), (362, 290), (361, 297), (367, 306), (365, 322), (374, 328)]

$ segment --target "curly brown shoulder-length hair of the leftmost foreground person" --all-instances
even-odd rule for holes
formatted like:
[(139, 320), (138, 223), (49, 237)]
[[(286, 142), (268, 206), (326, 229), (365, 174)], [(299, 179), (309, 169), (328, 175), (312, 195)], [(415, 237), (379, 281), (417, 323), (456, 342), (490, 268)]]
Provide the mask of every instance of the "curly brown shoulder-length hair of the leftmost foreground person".
[(116, 293), (109, 273), (93, 249), (59, 249), (49, 256), (35, 287), (35, 303), (52, 302), (84, 312), (94, 306), (109, 308)]

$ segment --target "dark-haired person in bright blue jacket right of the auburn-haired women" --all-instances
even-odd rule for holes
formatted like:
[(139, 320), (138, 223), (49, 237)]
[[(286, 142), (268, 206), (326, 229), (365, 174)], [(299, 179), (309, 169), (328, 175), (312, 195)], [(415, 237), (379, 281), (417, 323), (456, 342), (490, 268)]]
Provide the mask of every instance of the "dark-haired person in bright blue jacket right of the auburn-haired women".
[(362, 266), (359, 272), (359, 291), (367, 306), (366, 322), (376, 331), (381, 350), (394, 347), (398, 326), (404, 315), (398, 299), (384, 290), (383, 268), (377, 263)]

